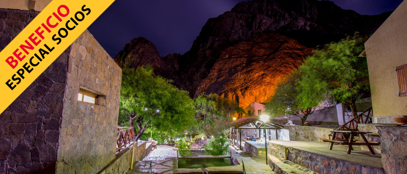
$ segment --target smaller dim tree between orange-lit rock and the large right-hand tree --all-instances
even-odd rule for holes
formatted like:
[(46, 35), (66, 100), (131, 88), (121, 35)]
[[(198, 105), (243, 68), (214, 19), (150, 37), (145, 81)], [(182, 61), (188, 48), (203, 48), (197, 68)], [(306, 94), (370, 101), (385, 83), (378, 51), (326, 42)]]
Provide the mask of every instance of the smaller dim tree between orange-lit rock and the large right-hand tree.
[[(298, 87), (300, 73), (293, 71), (290, 75), (285, 76), (277, 84), (275, 94), (266, 103), (266, 111), (271, 116), (282, 116), (284, 114), (297, 116), (301, 120), (301, 126), (304, 125), (308, 116), (313, 113), (314, 108), (318, 105), (319, 100), (308, 98), (313, 105), (305, 106), (301, 100), (298, 100), (297, 94), (301, 88)], [(302, 116), (301, 116), (302, 114)]]

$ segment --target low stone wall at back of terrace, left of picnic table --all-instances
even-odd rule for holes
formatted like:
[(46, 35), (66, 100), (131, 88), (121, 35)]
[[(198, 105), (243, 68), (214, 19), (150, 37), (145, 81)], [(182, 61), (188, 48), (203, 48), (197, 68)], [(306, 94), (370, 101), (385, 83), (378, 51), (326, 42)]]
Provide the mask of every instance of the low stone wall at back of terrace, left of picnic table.
[(322, 142), (320, 138), (329, 139), (331, 128), (320, 128), (313, 126), (285, 126), (290, 132), (291, 141), (316, 141)]

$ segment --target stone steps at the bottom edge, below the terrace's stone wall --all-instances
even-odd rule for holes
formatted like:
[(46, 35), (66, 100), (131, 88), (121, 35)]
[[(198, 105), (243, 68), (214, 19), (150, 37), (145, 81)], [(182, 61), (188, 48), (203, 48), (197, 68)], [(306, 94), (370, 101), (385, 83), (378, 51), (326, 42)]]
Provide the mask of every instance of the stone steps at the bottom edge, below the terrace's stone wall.
[(284, 160), (283, 162), (271, 155), (268, 155), (268, 165), (276, 174), (318, 174), (291, 161)]

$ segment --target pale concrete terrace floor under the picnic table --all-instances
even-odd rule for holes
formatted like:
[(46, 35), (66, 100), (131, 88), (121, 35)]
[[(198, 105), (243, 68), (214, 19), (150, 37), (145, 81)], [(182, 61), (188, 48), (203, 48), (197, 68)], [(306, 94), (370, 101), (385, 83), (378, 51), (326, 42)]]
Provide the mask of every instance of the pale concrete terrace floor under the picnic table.
[(304, 141), (282, 141), (271, 140), (269, 143), (279, 144), (283, 146), (293, 147), (299, 150), (309, 151), (320, 155), (327, 156), (328, 158), (337, 158), (341, 160), (348, 160), (372, 167), (383, 167), (381, 155), (373, 155), (369, 151), (362, 151), (360, 147), (353, 145), (351, 154), (346, 154), (347, 145), (333, 145), (332, 150), (329, 150), (329, 143), (319, 142), (304, 142)]

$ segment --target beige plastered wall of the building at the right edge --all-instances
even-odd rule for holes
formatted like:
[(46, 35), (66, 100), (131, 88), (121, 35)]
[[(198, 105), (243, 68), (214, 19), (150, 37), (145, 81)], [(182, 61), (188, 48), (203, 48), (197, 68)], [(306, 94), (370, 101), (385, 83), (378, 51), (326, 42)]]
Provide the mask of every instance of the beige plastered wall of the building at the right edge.
[(407, 94), (397, 96), (407, 92), (407, 67), (396, 71), (407, 64), (406, 41), (407, 1), (403, 1), (365, 43), (374, 123), (395, 123), (391, 117), (407, 115)]

